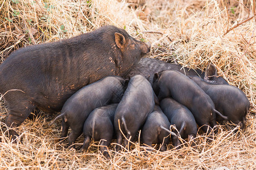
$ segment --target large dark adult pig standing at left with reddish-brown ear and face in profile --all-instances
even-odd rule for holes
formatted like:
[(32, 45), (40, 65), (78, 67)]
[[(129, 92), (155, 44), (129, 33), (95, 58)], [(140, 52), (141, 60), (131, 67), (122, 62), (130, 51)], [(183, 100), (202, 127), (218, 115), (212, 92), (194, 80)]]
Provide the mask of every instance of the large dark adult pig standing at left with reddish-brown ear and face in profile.
[[(18, 49), (0, 65), (6, 125), (19, 126), (35, 109), (60, 111), (77, 90), (108, 75), (123, 76), (150, 45), (108, 25), (71, 39)], [(18, 135), (9, 131), (12, 138)]]

